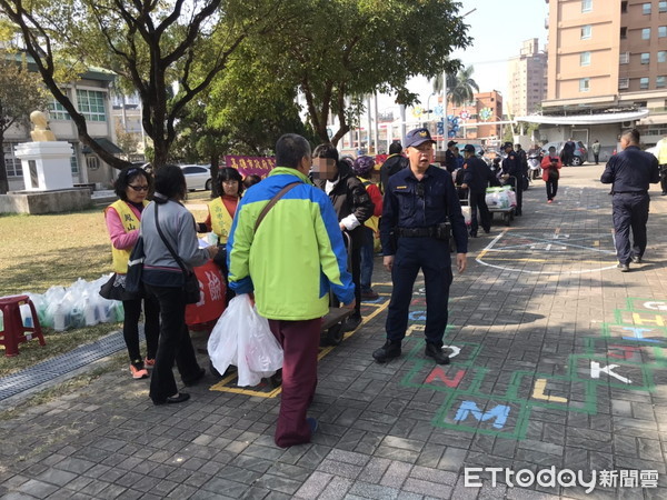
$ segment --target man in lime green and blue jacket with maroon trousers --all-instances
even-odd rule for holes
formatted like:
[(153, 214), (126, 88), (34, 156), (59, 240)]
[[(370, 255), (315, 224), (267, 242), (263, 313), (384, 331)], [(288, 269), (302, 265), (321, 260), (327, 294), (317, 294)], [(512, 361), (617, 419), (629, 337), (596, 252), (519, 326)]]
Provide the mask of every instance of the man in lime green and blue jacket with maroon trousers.
[[(308, 179), (310, 144), (288, 133), (276, 143), (271, 173), (241, 199), (227, 241), (229, 284), (255, 293), (257, 312), (269, 320), (282, 346), (282, 400), (275, 441), (290, 447), (310, 441), (317, 421), (306, 418), (317, 386), (317, 353), (329, 290), (355, 308), (355, 286), (338, 218), (327, 194)], [(267, 203), (297, 183), (267, 212)]]

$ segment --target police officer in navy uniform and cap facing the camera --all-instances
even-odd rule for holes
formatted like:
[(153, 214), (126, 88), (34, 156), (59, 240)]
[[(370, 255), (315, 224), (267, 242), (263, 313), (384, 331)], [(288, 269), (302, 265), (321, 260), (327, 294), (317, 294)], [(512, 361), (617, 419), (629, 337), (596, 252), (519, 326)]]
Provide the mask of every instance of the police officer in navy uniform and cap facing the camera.
[(434, 143), (428, 129), (408, 132), (405, 146), (410, 168), (392, 176), (387, 184), (380, 239), (385, 268), (391, 272), (394, 289), (387, 314), (387, 341), (372, 353), (378, 362), (400, 356), (412, 286), (421, 269), (427, 309), (425, 356), (438, 364), (449, 363), (449, 357), (442, 352), (452, 279), (449, 229), (456, 240), (459, 273), (466, 269), (468, 236), (451, 176), (430, 164)]

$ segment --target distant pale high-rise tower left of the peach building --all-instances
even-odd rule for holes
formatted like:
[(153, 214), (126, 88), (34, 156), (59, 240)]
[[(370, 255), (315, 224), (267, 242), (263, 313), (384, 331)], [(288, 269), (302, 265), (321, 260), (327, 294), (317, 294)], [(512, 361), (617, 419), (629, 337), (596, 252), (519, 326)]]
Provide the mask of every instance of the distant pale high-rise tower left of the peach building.
[(539, 39), (524, 41), (519, 56), (507, 63), (506, 111), (524, 117), (538, 111), (547, 97), (547, 54), (539, 50)]

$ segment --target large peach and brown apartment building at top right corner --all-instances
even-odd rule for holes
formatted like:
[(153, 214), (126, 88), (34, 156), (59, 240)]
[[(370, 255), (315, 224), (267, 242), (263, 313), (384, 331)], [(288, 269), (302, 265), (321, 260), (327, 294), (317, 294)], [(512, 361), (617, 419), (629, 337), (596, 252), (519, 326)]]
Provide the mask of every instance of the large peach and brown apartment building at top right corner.
[(667, 0), (547, 3), (548, 89), (542, 110), (570, 117), (558, 123), (558, 137), (549, 139), (599, 139), (615, 147), (621, 129), (637, 126), (643, 142), (655, 144), (667, 133)]

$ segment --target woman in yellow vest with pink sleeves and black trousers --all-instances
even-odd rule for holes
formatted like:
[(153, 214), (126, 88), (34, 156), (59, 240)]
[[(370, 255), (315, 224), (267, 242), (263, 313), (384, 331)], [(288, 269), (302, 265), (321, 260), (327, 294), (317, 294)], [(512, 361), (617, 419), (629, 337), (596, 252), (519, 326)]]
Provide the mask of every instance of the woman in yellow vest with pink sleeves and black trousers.
[[(125, 291), (130, 252), (139, 238), (139, 226), (146, 197), (150, 188), (150, 176), (138, 167), (128, 167), (120, 171), (115, 183), (116, 194), (120, 198), (104, 209), (107, 229), (111, 238), (115, 282), (111, 298), (122, 300), (125, 321), (122, 334), (130, 356), (130, 372), (135, 379), (148, 378), (147, 367), (156, 363), (158, 337), (160, 334), (160, 309), (153, 298), (135, 298)], [(139, 317), (143, 301), (143, 331), (146, 333), (146, 360), (139, 348)]]

